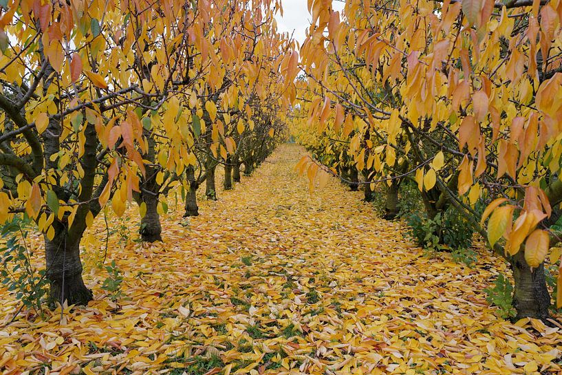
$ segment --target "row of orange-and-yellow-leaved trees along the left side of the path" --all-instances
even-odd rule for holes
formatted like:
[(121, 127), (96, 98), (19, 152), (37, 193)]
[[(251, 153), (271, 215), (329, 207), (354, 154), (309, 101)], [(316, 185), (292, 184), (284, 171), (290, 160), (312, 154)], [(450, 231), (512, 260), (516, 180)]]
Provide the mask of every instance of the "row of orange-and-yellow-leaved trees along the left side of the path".
[[(50, 300), (87, 303), (80, 239), (136, 201), (161, 239), (160, 197), (186, 215), (216, 199), (285, 136), (293, 44), (270, 0), (0, 4), (0, 222), (27, 215), (45, 239)], [(283, 74), (279, 74), (283, 72)], [(231, 173), (233, 171), (233, 173)]]

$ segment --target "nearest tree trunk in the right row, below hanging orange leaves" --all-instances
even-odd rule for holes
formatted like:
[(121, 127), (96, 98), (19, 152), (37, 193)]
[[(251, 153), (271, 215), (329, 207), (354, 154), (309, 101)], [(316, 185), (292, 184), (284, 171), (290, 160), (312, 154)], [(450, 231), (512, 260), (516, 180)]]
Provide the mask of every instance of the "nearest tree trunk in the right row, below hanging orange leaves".
[(515, 279), (513, 307), (517, 310), (516, 319), (530, 317), (545, 321), (550, 318), (550, 294), (546, 288), (544, 264), (531, 272), (523, 248), (510, 259), (510, 264)]

